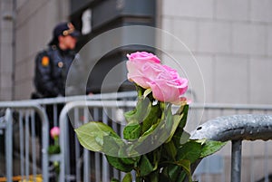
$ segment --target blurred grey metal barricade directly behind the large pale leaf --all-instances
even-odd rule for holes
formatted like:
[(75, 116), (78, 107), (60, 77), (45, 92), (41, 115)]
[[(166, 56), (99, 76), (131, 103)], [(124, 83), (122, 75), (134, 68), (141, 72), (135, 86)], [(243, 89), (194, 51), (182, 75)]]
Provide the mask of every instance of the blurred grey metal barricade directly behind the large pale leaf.
[[(112, 128), (121, 135), (121, 125), (113, 122), (113, 120), (119, 120), (120, 123), (124, 122), (120, 114), (125, 110), (131, 110), (134, 106), (135, 101), (73, 101), (64, 106), (60, 115), (60, 128), (62, 130), (60, 135), (62, 148), (60, 156), (60, 181), (70, 181), (73, 179), (75, 181), (100, 182), (110, 181), (110, 177), (121, 178), (123, 176), (122, 173), (109, 166), (106, 158), (102, 156), (102, 154), (93, 153), (87, 149), (83, 149), (81, 153), (80, 145), (77, 139), (75, 139), (75, 160), (77, 161), (75, 168), (77, 168), (77, 171), (75, 177), (71, 177), (71, 166), (69, 164), (69, 160), (71, 159), (69, 155), (70, 141), (67, 140), (67, 134), (69, 134), (67, 132), (67, 124), (69, 124), (70, 120), (79, 119), (79, 112), (82, 112), (83, 120), (78, 120), (79, 122), (74, 124), (75, 128), (90, 120), (101, 120), (103, 123), (112, 126)], [(74, 117), (74, 119), (72, 117)], [(82, 170), (80, 170), (80, 168), (82, 168)]]

